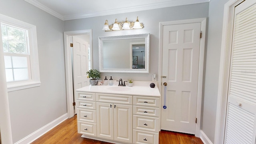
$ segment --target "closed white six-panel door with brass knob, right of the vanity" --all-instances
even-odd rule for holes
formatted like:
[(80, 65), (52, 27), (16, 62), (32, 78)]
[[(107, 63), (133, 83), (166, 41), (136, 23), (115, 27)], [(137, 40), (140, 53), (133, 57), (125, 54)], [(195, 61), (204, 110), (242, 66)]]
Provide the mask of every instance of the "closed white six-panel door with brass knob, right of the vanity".
[(163, 27), (161, 129), (195, 134), (201, 23)]

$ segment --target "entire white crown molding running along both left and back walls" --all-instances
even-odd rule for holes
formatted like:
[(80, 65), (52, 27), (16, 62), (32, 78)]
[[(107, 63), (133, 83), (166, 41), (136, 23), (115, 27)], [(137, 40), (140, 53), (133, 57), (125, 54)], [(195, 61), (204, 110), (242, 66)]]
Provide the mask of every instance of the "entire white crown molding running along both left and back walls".
[(80, 18), (90, 18), (95, 16), (106, 16), (106, 15), (112, 15), (112, 14), (122, 14), (127, 12), (138, 12), (142, 10), (152, 10), (157, 8), (166, 8), (166, 7), (172, 7), (172, 6), (182, 6), (182, 5), (188, 5), (188, 4), (198, 4), (198, 3), (204, 3), (204, 2), (210, 2), (210, 0), (172, 0), (167, 2), (157, 2), (154, 4), (144, 4), (140, 6), (133, 6), (133, 7), (126, 7), (126, 8), (117, 8), (112, 10), (102, 10), (98, 12), (93, 12), (89, 14), (72, 14), (72, 15), (65, 15), (62, 16), (58, 12), (48, 8), (47, 6), (44, 6), (40, 2), (37, 2), (36, 0), (25, 0), (26, 2), (44, 10), (45, 12), (48, 12), (49, 14), (52, 14), (53, 16), (61, 19), (61, 20), (74, 20), (74, 19), (80, 19)]

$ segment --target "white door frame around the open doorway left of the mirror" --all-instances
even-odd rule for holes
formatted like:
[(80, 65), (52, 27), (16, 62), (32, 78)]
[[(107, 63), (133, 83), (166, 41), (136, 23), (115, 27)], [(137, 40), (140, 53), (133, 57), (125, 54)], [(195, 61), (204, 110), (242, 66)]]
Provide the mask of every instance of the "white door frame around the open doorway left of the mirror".
[(74, 116), (73, 106), (73, 74), (72, 74), (72, 60), (70, 51), (70, 36), (84, 35), (90, 33), (90, 57), (92, 68), (92, 29), (89, 30), (76, 30), (64, 32), (64, 52), (65, 52), (65, 70), (66, 70), (66, 96), (67, 96), (67, 113), (68, 118)]

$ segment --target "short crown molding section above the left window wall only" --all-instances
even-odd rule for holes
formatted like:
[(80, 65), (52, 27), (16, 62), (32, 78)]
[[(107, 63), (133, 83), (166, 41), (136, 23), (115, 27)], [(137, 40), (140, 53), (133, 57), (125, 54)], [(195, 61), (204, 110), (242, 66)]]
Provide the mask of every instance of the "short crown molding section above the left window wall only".
[(40, 8), (41, 10), (44, 10), (45, 12), (48, 12), (49, 14), (55, 16), (56, 18), (59, 18), (60, 20), (64, 20), (63, 16), (61, 14), (59, 14), (58, 12), (55, 12), (54, 10), (48, 8), (47, 6), (41, 4), (40, 2), (36, 1), (36, 0), (24, 0), (38, 8)]

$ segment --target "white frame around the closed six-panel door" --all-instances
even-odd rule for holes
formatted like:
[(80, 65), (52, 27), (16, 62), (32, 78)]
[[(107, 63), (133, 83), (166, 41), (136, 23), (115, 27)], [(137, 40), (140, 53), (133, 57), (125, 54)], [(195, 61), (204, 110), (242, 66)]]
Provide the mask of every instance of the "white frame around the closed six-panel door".
[(202, 107), (202, 90), (203, 90), (203, 73), (204, 73), (204, 48), (205, 48), (205, 36), (206, 36), (206, 18), (195, 18), (188, 20), (175, 20), (169, 22), (160, 22), (159, 26), (159, 68), (158, 68), (158, 89), (162, 92), (162, 52), (163, 52), (163, 28), (168, 25), (176, 24), (190, 24), (201, 23), (202, 38), (200, 40), (200, 52), (199, 52), (199, 71), (198, 71), (198, 92), (197, 92), (197, 104), (196, 104), (196, 131), (195, 136), (200, 137), (200, 123), (201, 123), (201, 107)]

